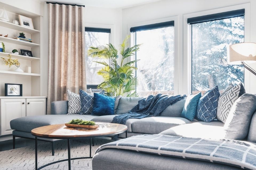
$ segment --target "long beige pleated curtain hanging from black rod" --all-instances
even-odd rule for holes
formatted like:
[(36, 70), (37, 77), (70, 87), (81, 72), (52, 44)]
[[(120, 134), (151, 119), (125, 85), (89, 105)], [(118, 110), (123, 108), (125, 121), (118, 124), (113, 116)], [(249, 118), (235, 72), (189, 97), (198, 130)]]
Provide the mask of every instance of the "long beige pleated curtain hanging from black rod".
[(48, 4), (49, 65), (47, 114), (51, 102), (67, 100), (67, 90), (86, 90), (84, 7)]

